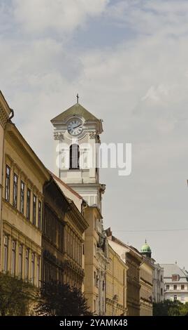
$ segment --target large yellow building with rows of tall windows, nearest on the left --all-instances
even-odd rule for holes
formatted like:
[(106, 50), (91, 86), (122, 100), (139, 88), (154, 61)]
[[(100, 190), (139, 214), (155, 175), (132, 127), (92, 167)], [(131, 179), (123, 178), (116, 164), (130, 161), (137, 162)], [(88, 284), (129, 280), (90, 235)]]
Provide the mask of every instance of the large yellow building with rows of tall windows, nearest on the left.
[(6, 124), (3, 153), (1, 270), (41, 281), (43, 185), (50, 179), (12, 122)]

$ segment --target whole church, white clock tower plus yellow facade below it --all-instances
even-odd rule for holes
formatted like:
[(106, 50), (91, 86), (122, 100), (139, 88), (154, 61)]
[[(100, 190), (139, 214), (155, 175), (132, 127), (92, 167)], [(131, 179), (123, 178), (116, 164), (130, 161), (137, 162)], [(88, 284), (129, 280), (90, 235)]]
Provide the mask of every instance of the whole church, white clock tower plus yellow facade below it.
[(55, 174), (85, 201), (84, 291), (94, 315), (106, 314), (108, 244), (101, 214), (106, 186), (99, 182), (99, 145), (102, 120), (77, 103), (52, 119), (55, 139)]

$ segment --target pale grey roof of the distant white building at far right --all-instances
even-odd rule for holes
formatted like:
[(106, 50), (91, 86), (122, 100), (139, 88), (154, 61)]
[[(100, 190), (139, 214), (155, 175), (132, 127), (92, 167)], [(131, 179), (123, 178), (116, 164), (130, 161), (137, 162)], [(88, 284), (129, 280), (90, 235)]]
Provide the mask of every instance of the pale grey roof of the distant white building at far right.
[(172, 282), (172, 275), (179, 275), (180, 280), (178, 282), (188, 282), (187, 270), (181, 269), (176, 263), (160, 264), (164, 268), (164, 279), (168, 279), (168, 282)]

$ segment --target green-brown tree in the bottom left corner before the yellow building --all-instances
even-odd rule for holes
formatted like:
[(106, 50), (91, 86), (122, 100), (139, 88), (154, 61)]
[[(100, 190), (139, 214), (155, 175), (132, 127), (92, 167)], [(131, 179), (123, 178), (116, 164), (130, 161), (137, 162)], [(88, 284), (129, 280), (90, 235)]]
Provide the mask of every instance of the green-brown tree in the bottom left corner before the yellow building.
[(34, 286), (8, 272), (0, 272), (0, 315), (27, 315), (34, 301)]

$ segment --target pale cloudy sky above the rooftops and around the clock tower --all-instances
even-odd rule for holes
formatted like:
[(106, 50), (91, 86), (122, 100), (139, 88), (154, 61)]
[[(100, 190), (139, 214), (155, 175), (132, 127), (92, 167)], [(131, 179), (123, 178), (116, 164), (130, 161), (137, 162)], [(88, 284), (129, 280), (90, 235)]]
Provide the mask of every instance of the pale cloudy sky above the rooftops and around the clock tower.
[(187, 59), (187, 0), (0, 0), (0, 89), (24, 138), (53, 170), (50, 119), (79, 93), (102, 142), (132, 143), (130, 176), (101, 171), (105, 227), (188, 269)]

